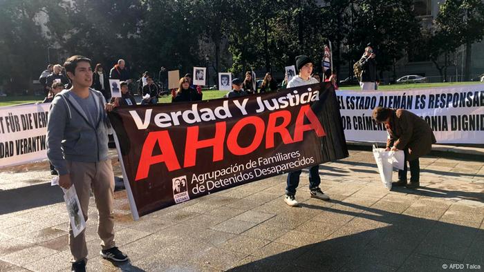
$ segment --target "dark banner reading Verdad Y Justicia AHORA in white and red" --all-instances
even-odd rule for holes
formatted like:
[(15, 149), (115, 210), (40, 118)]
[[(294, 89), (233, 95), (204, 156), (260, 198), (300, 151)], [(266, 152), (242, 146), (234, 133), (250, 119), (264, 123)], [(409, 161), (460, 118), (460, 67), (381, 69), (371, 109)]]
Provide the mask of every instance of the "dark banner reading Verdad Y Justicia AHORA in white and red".
[(333, 86), (109, 113), (133, 217), (348, 157)]

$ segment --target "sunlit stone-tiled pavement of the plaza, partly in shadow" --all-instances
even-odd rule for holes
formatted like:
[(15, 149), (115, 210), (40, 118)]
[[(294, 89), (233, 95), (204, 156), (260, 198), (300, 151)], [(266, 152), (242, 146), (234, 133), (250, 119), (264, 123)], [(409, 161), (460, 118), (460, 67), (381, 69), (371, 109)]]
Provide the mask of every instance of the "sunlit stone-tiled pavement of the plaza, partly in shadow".
[[(87, 222), (88, 271), (444, 271), (484, 268), (484, 162), (420, 159), (421, 188), (382, 185), (373, 155), (322, 164), (311, 199), (308, 173), (283, 202), (281, 175), (131, 220), (115, 193), (115, 233), (130, 262), (99, 256), (97, 211)], [(120, 166), (112, 155), (113, 168)], [(394, 179), (396, 173), (394, 173)], [(0, 173), (0, 271), (68, 271), (68, 215), (46, 162)]]

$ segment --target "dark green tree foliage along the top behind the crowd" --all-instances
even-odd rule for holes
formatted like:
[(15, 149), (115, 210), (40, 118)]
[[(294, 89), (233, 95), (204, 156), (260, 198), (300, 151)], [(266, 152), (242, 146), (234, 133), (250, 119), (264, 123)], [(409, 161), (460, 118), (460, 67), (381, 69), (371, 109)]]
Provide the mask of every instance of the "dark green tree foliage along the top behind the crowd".
[[(484, 35), (480, 0), (445, 1), (431, 32), (420, 30), (412, 0), (328, 0), (317, 6), (321, 2), (0, 0), (0, 52), (6, 59), (0, 62), (0, 81), (37, 79), (47, 64), (47, 48), (60, 48), (63, 57), (86, 55), (106, 69), (124, 58), (133, 77), (145, 70), (157, 77), (161, 66), (181, 74), (205, 66), (205, 54), (223, 71), (225, 50), (236, 74), (252, 68), (280, 71), (300, 54), (313, 57), (319, 68), (329, 39), (337, 70), (352, 65), (371, 43), (381, 72), (391, 70), (409, 48), (438, 59)], [(48, 18), (46, 33), (39, 14)], [(51, 62), (62, 60), (56, 56)]]

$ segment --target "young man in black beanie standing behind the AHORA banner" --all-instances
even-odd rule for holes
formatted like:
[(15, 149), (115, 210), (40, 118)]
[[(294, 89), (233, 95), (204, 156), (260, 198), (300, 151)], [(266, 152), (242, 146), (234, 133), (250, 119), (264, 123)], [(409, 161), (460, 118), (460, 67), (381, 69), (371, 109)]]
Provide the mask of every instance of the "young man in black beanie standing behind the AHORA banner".
[[(296, 57), (296, 67), (299, 70), (299, 75), (292, 77), (289, 81), (287, 88), (317, 84), (319, 81), (314, 77), (311, 77), (313, 73), (313, 61), (305, 55)], [(288, 173), (288, 185), (286, 187), (286, 196), (284, 201), (289, 206), (298, 206), (295, 195), (297, 186), (299, 186), (299, 175), (301, 170)], [(329, 200), (328, 195), (325, 195), (319, 188), (321, 178), (319, 177), (319, 165), (311, 166), (309, 168), (309, 190), (310, 197), (317, 198), (319, 200)]]

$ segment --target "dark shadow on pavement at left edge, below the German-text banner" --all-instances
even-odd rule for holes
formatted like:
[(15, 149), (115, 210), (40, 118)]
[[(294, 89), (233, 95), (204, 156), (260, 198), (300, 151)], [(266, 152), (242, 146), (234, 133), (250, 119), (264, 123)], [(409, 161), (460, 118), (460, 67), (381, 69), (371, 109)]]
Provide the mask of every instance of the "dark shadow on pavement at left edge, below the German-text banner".
[(0, 215), (64, 202), (63, 193), (50, 182), (0, 191)]

